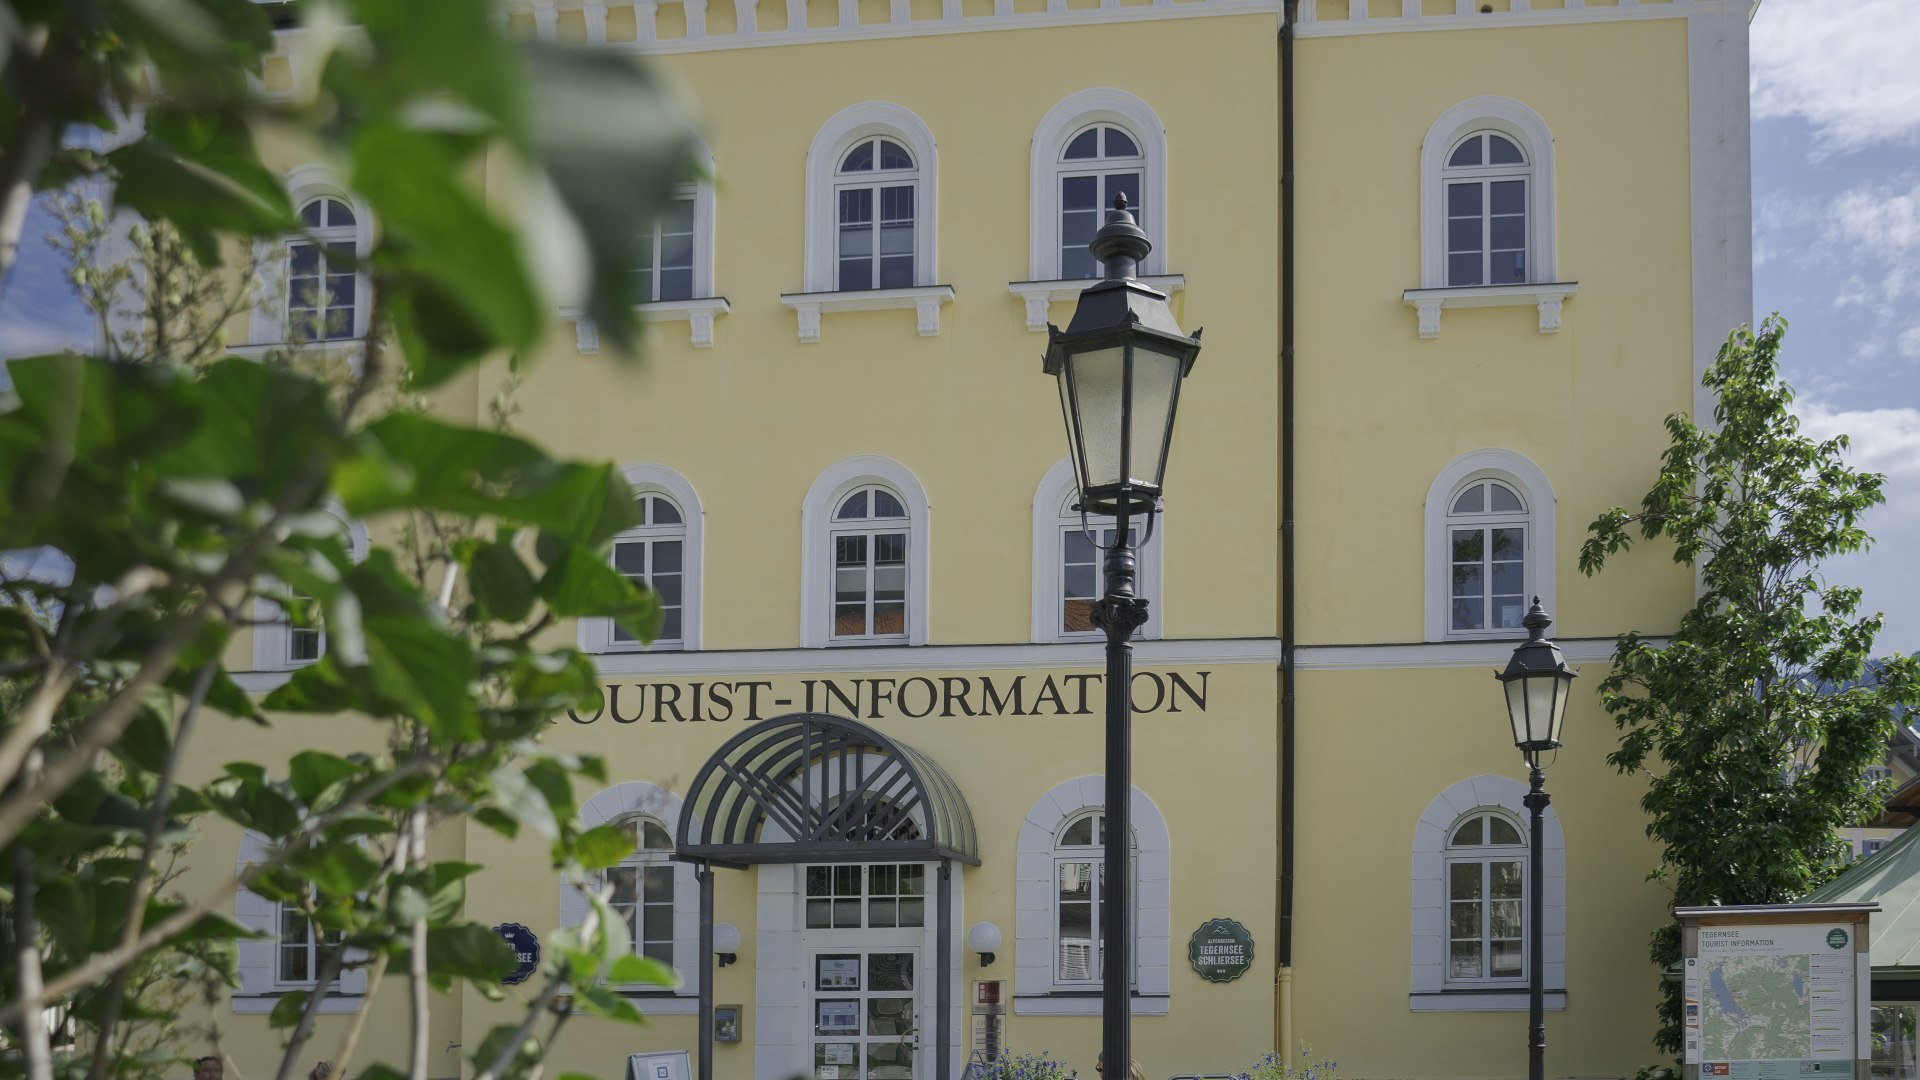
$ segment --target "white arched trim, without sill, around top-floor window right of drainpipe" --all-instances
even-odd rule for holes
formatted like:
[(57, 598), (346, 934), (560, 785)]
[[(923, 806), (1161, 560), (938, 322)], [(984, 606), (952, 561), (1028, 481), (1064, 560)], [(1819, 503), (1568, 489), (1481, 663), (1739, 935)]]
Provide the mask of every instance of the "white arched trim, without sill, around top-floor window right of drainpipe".
[(1553, 133), (1513, 98), (1467, 98), (1440, 113), (1421, 142), (1421, 288), (1446, 288), (1446, 154), (1473, 131), (1498, 131), (1526, 156), (1526, 281), (1559, 281), (1553, 223)]

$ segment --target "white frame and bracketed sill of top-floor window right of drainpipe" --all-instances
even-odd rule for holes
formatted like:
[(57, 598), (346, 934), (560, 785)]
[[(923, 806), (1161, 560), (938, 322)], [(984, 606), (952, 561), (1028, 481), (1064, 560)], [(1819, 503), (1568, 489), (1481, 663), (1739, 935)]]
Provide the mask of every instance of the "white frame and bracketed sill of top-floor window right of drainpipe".
[[(1476, 135), (1498, 135), (1509, 140), (1524, 160), (1519, 165), (1448, 167), (1448, 160)], [(1419, 311), (1423, 338), (1440, 336), (1444, 307), (1538, 307), (1540, 332), (1561, 327), (1561, 306), (1578, 290), (1578, 282), (1559, 279), (1559, 250), (1555, 227), (1553, 133), (1540, 113), (1513, 98), (1469, 98), (1440, 113), (1421, 142), (1421, 286), (1409, 288), (1404, 302)], [(1519, 181), (1526, 186), (1526, 273), (1517, 282), (1482, 282), (1457, 286), (1448, 279), (1448, 184), (1484, 184)], [(1492, 229), (1488, 223), (1486, 229)]]

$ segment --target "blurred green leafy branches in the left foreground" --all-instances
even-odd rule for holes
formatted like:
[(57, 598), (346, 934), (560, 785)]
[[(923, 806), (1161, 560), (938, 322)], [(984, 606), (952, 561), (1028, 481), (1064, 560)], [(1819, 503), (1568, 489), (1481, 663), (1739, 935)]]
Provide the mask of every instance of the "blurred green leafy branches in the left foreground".
[[(330, 1055), (340, 1074), (378, 986), (399, 980), (409, 1061), (359, 1074), (424, 1076), (430, 995), (459, 980), (501, 995), (511, 967), (465, 917), (476, 867), (432, 859), (428, 832), (461, 819), (551, 838), (582, 886), (630, 851), (574, 813), (574, 776), (601, 763), (540, 746), (597, 694), (589, 659), (543, 630), (659, 626), (655, 598), (607, 561), (636, 521), (626, 484), (497, 425), (382, 404), (490, 356), (518, 363), (555, 311), (532, 252), (557, 234), (580, 238), (589, 315), (630, 342), (624, 269), (691, 177), (693, 135), (632, 60), (509, 42), (490, 8), (303, 4), (311, 79), (267, 96), (275, 38), (250, 0), (0, 0), (0, 286), (35, 192), (86, 179), (140, 219), (136, 273), (81, 282), (96, 313), (125, 302), (134, 317), (108, 319), (102, 356), (10, 361), (0, 400), (0, 552), (15, 553), (0, 555), (0, 1076), (167, 1068), (180, 1047), (148, 1036), (192, 988), (232, 980), (248, 932), (223, 913), (242, 888), (323, 942), (315, 990), (271, 1019), (288, 1032), (278, 1080), (349, 969), (369, 992)], [(109, 150), (63, 140), (77, 127)], [(225, 313), (204, 309), (250, 273), (236, 252), (301, 229), (255, 150), (263, 127), (332, 161), (378, 221), (357, 267), (372, 329), (313, 363), (225, 357)], [(499, 169), (551, 192), (526, 234), (472, 183)], [(75, 250), (86, 221), (111, 215), (69, 229)], [(365, 557), (336, 513), (371, 528)], [(223, 655), (275, 603), (323, 619), (326, 653), (255, 701)], [(365, 717), (363, 749), (188, 782), (190, 759), (219, 753), (217, 724), (275, 713)], [(180, 894), (179, 861), (211, 821), (269, 849)], [(609, 986), (672, 978), (589, 897), (595, 917), (549, 938), (524, 1015), (468, 1051), (476, 1076), (536, 1068), (572, 1015), (551, 1009), (563, 990), (637, 1020)], [(77, 1051), (56, 1051), (48, 1017)]]

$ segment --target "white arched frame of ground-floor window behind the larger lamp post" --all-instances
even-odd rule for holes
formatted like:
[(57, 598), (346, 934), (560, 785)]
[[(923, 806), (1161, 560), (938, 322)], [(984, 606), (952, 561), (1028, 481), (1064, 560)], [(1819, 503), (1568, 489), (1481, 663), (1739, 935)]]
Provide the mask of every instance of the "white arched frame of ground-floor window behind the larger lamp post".
[[(1021, 1015), (1098, 1017), (1098, 995), (1085, 980), (1060, 978), (1060, 867), (1102, 861), (1096, 846), (1064, 844), (1075, 822), (1106, 803), (1104, 776), (1075, 776), (1041, 796), (1020, 826), (1016, 853), (1014, 1011)], [(1133, 1013), (1165, 1015), (1171, 988), (1173, 842), (1160, 807), (1133, 790)], [(1071, 972), (1069, 972), (1071, 974)]]

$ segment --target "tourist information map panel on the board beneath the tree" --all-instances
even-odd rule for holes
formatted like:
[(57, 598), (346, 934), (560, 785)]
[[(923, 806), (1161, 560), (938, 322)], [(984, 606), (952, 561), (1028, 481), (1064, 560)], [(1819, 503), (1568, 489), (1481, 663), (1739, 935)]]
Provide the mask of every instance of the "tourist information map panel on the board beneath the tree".
[(1836, 922), (1701, 926), (1684, 970), (1688, 1065), (1701, 1076), (1801, 1080), (1853, 1061), (1853, 934)]

